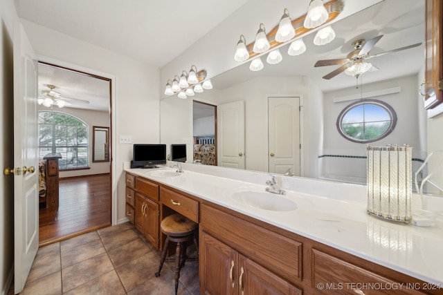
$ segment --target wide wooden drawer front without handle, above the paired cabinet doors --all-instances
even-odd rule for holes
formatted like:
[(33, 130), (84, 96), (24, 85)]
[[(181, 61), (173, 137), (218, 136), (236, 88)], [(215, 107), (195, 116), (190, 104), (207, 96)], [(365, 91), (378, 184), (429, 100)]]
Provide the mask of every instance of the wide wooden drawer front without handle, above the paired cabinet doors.
[(302, 243), (201, 205), (200, 225), (215, 238), (292, 283), (302, 279)]

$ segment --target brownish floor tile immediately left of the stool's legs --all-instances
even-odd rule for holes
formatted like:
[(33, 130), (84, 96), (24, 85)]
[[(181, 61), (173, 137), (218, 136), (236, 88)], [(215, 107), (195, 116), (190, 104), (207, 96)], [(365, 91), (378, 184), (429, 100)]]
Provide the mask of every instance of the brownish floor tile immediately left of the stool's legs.
[[(165, 272), (170, 271), (167, 267), (165, 268)], [(145, 283), (145, 281), (155, 278), (155, 272), (158, 269), (159, 258), (151, 251), (140, 258), (118, 267), (116, 270), (126, 291), (129, 291)]]

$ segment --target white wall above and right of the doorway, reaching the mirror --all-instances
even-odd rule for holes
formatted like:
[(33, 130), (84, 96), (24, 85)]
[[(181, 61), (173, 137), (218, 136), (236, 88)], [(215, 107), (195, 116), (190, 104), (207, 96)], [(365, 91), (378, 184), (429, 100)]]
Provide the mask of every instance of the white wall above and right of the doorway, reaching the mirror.
[[(102, 73), (115, 77), (115, 118), (111, 131), (118, 135), (132, 135), (132, 142), (159, 142), (159, 69), (141, 61), (129, 59), (105, 48), (88, 44), (30, 21), (24, 28), (37, 55), (69, 64), (69, 68)], [(128, 45), (130, 46), (130, 45)], [(114, 103), (114, 102), (113, 102)], [(117, 193), (117, 219), (125, 219), (125, 175), (123, 162), (132, 160), (132, 144), (113, 146), (112, 158), (116, 166), (113, 192)]]

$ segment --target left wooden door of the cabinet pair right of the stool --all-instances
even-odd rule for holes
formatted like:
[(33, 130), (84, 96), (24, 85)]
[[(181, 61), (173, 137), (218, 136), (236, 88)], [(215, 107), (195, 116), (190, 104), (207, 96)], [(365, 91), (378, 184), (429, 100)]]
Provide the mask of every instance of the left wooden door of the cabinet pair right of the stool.
[(237, 294), (237, 251), (202, 231), (199, 260), (201, 294)]

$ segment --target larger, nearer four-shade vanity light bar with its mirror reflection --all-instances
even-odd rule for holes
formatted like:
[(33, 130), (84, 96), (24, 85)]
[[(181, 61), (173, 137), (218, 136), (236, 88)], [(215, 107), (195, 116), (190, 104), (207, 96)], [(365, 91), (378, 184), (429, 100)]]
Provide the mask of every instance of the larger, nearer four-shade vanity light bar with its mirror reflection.
[[(274, 52), (274, 50), (288, 42), (292, 42), (288, 49), (288, 55), (301, 55), (305, 52), (306, 46), (301, 38), (300, 42), (296, 42), (298, 40), (297, 37), (334, 20), (343, 11), (343, 8), (343, 0), (331, 0), (325, 4), (323, 4), (322, 0), (311, 0), (307, 14), (293, 21), (289, 17), (289, 10), (284, 8), (278, 25), (267, 35), (263, 23), (260, 23), (260, 28), (255, 35), (253, 43), (246, 45), (246, 39), (243, 35), (240, 35), (235, 49), (234, 60), (243, 62), (251, 59), (249, 68), (253, 71), (261, 70), (263, 68), (262, 62), (257, 60), (256, 57), (268, 53), (266, 61), (269, 64), (278, 64), (282, 60), (282, 55), (278, 55), (279, 52)], [(327, 44), (335, 38), (335, 32), (329, 26), (327, 33), (323, 31), (321, 37), (321, 40), (317, 41), (318, 45)]]

